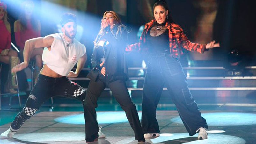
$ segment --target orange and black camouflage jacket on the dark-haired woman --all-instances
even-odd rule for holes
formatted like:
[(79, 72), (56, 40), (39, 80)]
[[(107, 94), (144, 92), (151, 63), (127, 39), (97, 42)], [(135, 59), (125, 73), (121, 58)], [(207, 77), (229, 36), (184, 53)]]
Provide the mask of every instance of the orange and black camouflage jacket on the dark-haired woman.
[[(154, 20), (150, 21), (145, 25), (145, 28), (141, 34), (140, 41), (138, 43), (128, 45), (126, 51), (139, 50), (144, 51), (148, 50), (146, 45), (146, 35), (150, 27), (153, 26)], [(169, 30), (169, 47), (170, 53), (173, 57), (179, 58), (183, 54), (181, 47), (189, 51), (197, 51), (199, 53), (204, 53), (205, 46), (198, 43), (193, 43), (187, 39), (187, 36), (184, 34), (182, 28), (175, 23), (166, 22), (165, 26)]]

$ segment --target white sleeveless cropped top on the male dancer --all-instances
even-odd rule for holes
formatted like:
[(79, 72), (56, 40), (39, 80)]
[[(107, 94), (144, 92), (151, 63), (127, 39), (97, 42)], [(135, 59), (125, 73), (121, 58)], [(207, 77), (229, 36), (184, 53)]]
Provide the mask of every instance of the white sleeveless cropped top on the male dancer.
[(54, 37), (51, 50), (44, 48), (42, 60), (51, 70), (59, 75), (67, 76), (77, 61), (86, 53), (86, 48), (74, 39), (68, 44), (63, 33), (55, 33), (48, 36)]

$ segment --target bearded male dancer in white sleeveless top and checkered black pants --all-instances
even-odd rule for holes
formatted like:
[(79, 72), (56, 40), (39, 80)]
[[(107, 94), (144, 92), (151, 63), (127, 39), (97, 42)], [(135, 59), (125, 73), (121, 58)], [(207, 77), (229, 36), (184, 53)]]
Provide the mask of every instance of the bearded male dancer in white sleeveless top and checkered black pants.
[[(12, 68), (12, 72), (21, 71), (29, 64), (30, 54), (35, 48), (44, 47), (43, 68), (27, 99), (25, 107), (17, 114), (10, 128), (0, 135), (0, 139), (12, 138), (14, 133), (29, 119), (50, 97), (78, 99), (84, 105), (86, 91), (68, 78), (77, 77), (87, 60), (86, 48), (75, 39), (77, 33), (76, 16), (65, 13), (61, 20), (62, 32), (44, 38), (27, 40), (24, 47), (24, 62)], [(76, 72), (71, 71), (77, 63)], [(99, 129), (99, 135), (105, 137)]]

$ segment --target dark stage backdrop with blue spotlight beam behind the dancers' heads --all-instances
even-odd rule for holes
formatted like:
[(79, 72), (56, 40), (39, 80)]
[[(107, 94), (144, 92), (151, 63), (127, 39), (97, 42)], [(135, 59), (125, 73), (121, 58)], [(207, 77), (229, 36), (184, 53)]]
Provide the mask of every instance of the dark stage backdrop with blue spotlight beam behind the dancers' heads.
[[(20, 13), (19, 0), (1, 0), (8, 6), (9, 21), (12, 26)], [(37, 18), (42, 25), (42, 36), (58, 32), (56, 24), (64, 12), (77, 15), (83, 27), (80, 42), (87, 48), (90, 56), (92, 41), (100, 28), (100, 19), (105, 11), (116, 11), (122, 22), (131, 28), (129, 43), (138, 41), (137, 32), (141, 25), (153, 18), (152, 6), (155, 0), (33, 0)], [(220, 42), (221, 47), (205, 54), (186, 52), (185, 60), (227, 61), (227, 54), (238, 49), (246, 65), (255, 65), (255, 2), (253, 0), (167, 0), (174, 21), (181, 25), (189, 40), (207, 43)], [(50, 4), (63, 6), (59, 9)], [(56, 9), (55, 9), (56, 8)], [(56, 18), (55, 18), (56, 17)], [(14, 34), (12, 34), (12, 41)], [(90, 66), (90, 60), (87, 61)], [(186, 64), (185, 64), (186, 65)]]

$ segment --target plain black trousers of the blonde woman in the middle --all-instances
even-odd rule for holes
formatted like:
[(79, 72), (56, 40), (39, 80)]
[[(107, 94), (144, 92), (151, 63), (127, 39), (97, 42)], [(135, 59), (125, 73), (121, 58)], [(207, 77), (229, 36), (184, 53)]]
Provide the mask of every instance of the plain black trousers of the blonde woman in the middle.
[(95, 138), (98, 138), (98, 122), (96, 120), (97, 100), (101, 92), (108, 86), (113, 93), (113, 96), (120, 104), (121, 108), (125, 111), (126, 117), (134, 130), (135, 139), (143, 139), (143, 132), (141, 128), (141, 123), (139, 120), (138, 112), (136, 110), (135, 104), (133, 104), (127, 86), (124, 80), (116, 80), (113, 82), (106, 82), (105, 77), (99, 74), (99, 79), (95, 81), (90, 81), (86, 93), (85, 104), (84, 104), (84, 117), (85, 117), (85, 134), (86, 141), (91, 142)]

